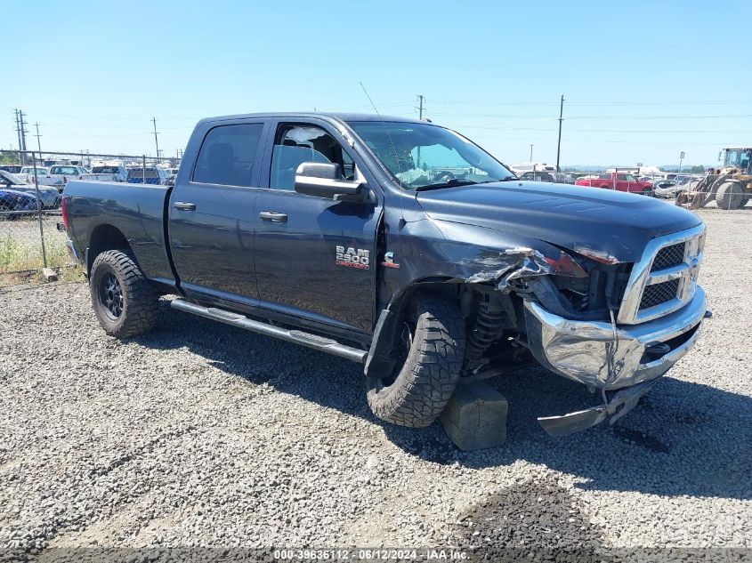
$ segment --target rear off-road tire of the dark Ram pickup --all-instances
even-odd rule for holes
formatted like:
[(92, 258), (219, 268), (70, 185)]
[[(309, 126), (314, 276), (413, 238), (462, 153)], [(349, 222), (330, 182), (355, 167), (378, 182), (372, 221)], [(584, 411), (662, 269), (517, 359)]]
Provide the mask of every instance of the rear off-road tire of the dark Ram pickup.
[[(115, 315), (102, 295), (106, 280), (117, 281), (121, 298)], [(159, 294), (143, 275), (131, 253), (108, 250), (94, 260), (89, 276), (94, 314), (104, 332), (117, 338), (148, 333), (157, 319)]]

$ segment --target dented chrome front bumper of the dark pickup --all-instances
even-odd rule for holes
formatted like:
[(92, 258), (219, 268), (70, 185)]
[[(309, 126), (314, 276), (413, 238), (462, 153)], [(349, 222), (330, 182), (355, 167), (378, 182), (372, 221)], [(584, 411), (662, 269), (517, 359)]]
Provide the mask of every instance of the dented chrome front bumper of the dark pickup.
[[(697, 340), (707, 300), (698, 287), (691, 302), (665, 317), (634, 326), (574, 321), (525, 302), (530, 351), (547, 369), (600, 390), (655, 380)], [(616, 335), (616, 338), (614, 336)]]

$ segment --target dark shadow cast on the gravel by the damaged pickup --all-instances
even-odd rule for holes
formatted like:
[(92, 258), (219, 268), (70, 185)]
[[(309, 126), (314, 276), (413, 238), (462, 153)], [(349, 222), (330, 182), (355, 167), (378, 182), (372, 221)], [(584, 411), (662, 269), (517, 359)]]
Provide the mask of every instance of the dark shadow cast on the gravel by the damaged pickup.
[(575, 476), (582, 489), (752, 499), (752, 398), (745, 395), (665, 377), (615, 425), (553, 438), (536, 417), (593, 406), (599, 396), (543, 369), (521, 370), (491, 382), (509, 401), (505, 446), (461, 452), (438, 422), (408, 429), (377, 420), (358, 364), (164, 305), (156, 330), (137, 342), (188, 347), (227, 374), (360, 416), (426, 462), (480, 469), (526, 460)]

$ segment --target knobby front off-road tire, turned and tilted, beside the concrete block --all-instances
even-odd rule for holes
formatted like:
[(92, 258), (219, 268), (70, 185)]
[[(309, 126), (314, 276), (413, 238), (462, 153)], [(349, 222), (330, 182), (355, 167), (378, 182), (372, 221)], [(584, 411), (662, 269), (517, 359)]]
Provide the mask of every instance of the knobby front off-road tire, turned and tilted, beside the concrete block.
[(465, 356), (465, 321), (457, 305), (418, 295), (408, 311), (414, 326), (408, 357), (389, 385), (368, 378), (368, 406), (386, 422), (429, 426), (454, 393)]

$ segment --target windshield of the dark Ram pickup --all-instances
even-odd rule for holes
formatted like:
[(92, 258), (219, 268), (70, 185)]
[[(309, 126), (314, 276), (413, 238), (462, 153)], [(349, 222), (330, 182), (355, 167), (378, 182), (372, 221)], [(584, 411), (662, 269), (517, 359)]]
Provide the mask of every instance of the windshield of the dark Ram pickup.
[(348, 122), (404, 189), (432, 189), (516, 178), (489, 153), (437, 125)]

